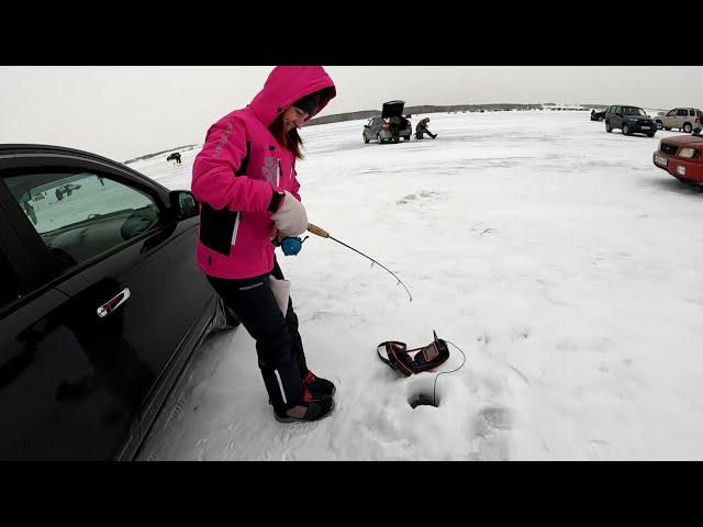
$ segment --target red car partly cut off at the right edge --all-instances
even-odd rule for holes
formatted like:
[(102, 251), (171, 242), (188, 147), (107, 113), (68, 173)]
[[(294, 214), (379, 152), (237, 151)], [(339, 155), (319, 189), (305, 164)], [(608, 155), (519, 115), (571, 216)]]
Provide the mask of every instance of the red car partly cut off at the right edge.
[(703, 136), (667, 137), (652, 154), (654, 164), (681, 181), (703, 183)]

